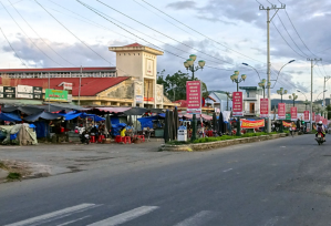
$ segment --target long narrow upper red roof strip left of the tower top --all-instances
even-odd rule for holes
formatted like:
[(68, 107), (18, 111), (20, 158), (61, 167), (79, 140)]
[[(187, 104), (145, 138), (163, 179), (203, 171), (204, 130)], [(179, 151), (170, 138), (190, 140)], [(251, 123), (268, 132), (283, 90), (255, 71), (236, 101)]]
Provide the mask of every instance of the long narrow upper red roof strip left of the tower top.
[[(103, 68), (83, 68), (83, 72), (91, 71), (116, 71), (114, 66)], [(15, 72), (81, 72), (81, 68), (49, 68), (49, 69), (0, 69), (0, 73), (15, 73)]]

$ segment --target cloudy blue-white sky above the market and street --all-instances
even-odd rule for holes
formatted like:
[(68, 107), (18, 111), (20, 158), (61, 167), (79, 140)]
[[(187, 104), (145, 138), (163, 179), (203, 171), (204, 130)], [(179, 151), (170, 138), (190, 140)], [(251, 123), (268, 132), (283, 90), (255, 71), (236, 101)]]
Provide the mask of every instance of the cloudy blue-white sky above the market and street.
[[(158, 56), (157, 70), (166, 74), (186, 71), (183, 62), (197, 54), (213, 68), (196, 73), (208, 90), (234, 91), (230, 75), (235, 70), (247, 74), (240, 85), (257, 85), (259, 76), (267, 79), (267, 12), (259, 10), (256, 0), (81, 0), (92, 10), (76, 0), (0, 1), (1, 69), (25, 68), (21, 60), (29, 68), (110, 66), (116, 59), (107, 47), (138, 42), (165, 52)], [(268, 1), (259, 2), (270, 7)], [(322, 58), (313, 70), (316, 99), (323, 90), (323, 78), (331, 75), (331, 1), (282, 3), (286, 10), (279, 10), (270, 23), (271, 79), (283, 64), (296, 61), (282, 69), (276, 84), (272, 82), (272, 97), (278, 97), (275, 93), (282, 86), (289, 93), (300, 89), (310, 100), (307, 58)], [(256, 68), (259, 76), (242, 62)], [(331, 80), (327, 90), (329, 97)]]

